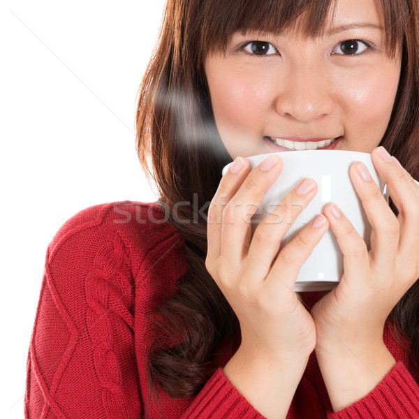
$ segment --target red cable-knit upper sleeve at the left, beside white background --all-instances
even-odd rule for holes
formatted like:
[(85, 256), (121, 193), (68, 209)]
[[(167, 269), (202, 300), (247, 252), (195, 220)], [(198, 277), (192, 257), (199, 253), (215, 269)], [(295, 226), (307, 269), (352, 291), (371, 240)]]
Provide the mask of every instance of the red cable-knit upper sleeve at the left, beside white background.
[(119, 236), (94, 224), (70, 232), (67, 225), (48, 247), (27, 362), (27, 419), (142, 417), (130, 262)]

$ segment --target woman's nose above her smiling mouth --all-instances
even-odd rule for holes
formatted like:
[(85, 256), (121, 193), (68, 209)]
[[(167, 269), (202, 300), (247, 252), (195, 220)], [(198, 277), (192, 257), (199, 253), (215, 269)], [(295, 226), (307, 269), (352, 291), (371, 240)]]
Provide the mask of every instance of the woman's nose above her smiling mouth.
[(330, 78), (318, 66), (300, 61), (281, 74), (279, 84), (276, 108), (284, 117), (309, 122), (331, 115), (335, 109)]

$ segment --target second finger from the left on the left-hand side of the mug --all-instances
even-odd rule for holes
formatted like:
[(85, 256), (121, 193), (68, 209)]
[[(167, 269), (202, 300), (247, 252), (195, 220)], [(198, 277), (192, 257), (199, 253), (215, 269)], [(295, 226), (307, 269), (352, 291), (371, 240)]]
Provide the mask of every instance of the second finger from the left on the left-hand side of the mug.
[(237, 260), (247, 256), (251, 240), (251, 216), (262, 203), (266, 192), (282, 170), (279, 156), (270, 154), (253, 168), (223, 210), (221, 251), (228, 249), (228, 257)]

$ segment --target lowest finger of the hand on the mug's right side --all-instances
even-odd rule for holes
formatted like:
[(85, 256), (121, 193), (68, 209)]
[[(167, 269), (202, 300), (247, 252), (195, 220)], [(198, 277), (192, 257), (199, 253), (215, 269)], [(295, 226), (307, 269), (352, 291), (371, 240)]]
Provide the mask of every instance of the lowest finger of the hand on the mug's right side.
[(336, 204), (326, 205), (324, 214), (344, 256), (345, 278), (351, 278), (354, 285), (362, 286), (365, 272), (369, 271), (367, 245)]

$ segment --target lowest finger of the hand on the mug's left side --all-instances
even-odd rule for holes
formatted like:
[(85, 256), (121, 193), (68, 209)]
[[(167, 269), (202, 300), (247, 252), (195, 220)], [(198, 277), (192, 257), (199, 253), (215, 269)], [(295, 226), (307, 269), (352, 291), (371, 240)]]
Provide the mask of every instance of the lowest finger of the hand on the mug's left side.
[(293, 291), (302, 264), (311, 255), (328, 228), (328, 219), (321, 214), (308, 226), (302, 228), (293, 240), (281, 249), (265, 279), (266, 286), (272, 289), (272, 293), (279, 287), (282, 287), (281, 291), (284, 291), (283, 287)]

